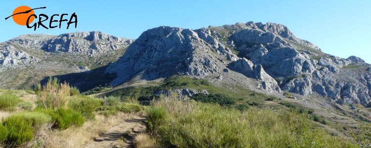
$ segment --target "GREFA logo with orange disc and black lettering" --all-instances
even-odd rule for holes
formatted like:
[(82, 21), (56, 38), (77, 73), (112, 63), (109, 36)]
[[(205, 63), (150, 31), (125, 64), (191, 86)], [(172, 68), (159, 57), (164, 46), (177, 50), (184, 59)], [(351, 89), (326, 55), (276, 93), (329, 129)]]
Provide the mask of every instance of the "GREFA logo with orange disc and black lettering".
[[(39, 14), (37, 16), (35, 14), (36, 9), (46, 9), (46, 7), (40, 8), (30, 8), (29, 6), (19, 6), (14, 9), (13, 14), (6, 17), (5, 20), (12, 17), (14, 22), (21, 26), (27, 26), (27, 28), (33, 28), (35, 31), (37, 28), (44, 27), (45, 29), (53, 29), (59, 26), (61, 28), (62, 22), (67, 22), (67, 29), (70, 27), (71, 24), (75, 24), (75, 28), (77, 28), (77, 15), (73, 13), (69, 20), (63, 19), (63, 17), (67, 17), (68, 14), (53, 14), (49, 17), (46, 14)], [(59, 18), (59, 20), (55, 18)], [(34, 24), (31, 24), (34, 20), (37, 20)], [(58, 24), (59, 22), (59, 24)]]

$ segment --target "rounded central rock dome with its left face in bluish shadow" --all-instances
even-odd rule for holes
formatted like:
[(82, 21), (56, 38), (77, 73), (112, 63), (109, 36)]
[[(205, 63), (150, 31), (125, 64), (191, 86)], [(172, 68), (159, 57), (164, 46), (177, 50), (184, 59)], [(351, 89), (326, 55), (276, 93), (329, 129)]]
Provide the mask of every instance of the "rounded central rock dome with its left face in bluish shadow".
[[(142, 71), (149, 77), (171, 74), (187, 74), (200, 77), (216, 74), (224, 67), (212, 54), (224, 48), (216, 40), (201, 35), (213, 45), (198, 37), (195, 31), (181, 28), (159, 27), (144, 32), (128, 49), (126, 54), (107, 68), (109, 73), (118, 73), (113, 81), (117, 85)], [(225, 50), (220, 54), (231, 54)]]

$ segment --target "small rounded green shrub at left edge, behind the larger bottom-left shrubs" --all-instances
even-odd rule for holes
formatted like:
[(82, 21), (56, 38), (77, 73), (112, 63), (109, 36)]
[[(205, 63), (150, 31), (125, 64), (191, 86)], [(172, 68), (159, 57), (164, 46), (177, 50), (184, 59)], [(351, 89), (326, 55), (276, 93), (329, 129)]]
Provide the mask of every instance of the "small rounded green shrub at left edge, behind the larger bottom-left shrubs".
[(22, 100), (13, 93), (6, 92), (0, 94), (0, 110), (13, 111), (21, 101)]

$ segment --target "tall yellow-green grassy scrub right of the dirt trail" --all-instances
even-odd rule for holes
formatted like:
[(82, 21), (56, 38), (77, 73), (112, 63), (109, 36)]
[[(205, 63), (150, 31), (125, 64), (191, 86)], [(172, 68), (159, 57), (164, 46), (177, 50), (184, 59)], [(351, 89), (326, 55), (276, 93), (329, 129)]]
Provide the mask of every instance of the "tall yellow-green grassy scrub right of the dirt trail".
[(147, 111), (151, 134), (163, 147), (179, 148), (354, 148), (316, 128), (306, 114), (163, 99)]

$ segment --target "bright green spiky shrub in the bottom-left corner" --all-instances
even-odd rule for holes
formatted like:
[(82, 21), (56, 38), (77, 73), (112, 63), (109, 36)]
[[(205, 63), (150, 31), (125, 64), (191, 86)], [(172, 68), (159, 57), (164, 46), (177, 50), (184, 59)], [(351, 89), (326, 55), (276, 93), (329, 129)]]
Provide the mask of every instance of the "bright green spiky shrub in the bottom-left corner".
[(22, 116), (10, 116), (3, 124), (8, 130), (5, 142), (8, 145), (20, 146), (34, 138), (32, 121)]

